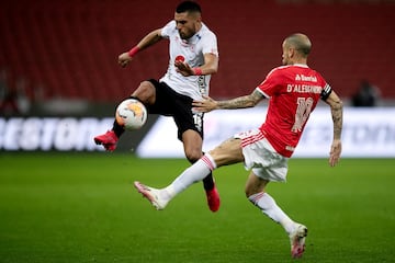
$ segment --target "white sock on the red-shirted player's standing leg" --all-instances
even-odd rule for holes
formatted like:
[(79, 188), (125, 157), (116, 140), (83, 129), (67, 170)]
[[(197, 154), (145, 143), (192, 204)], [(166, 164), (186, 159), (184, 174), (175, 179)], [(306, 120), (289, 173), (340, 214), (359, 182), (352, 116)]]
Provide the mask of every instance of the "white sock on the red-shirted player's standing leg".
[(279, 222), (287, 233), (294, 230), (295, 222), (275, 204), (273, 197), (268, 193), (258, 193), (248, 197), (248, 199), (258, 206), (263, 214), (272, 220)]

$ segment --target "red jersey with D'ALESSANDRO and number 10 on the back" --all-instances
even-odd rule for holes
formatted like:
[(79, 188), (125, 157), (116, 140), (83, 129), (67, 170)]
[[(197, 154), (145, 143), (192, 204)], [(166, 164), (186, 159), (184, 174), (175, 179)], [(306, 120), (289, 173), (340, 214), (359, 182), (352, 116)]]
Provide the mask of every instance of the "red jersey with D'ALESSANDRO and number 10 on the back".
[(274, 68), (257, 90), (270, 98), (260, 130), (280, 155), (291, 157), (309, 114), (319, 99), (329, 96), (330, 85), (306, 65), (292, 65)]

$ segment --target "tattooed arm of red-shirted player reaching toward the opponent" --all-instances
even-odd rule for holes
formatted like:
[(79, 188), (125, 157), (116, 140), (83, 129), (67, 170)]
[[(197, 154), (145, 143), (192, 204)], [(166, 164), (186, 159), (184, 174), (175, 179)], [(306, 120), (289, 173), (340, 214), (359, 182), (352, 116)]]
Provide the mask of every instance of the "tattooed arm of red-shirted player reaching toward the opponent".
[(263, 94), (255, 90), (249, 95), (238, 96), (225, 101), (215, 101), (210, 96), (204, 96), (203, 101), (194, 101), (192, 105), (194, 110), (199, 112), (211, 112), (213, 110), (234, 110), (234, 108), (253, 107), (263, 99), (264, 99)]

